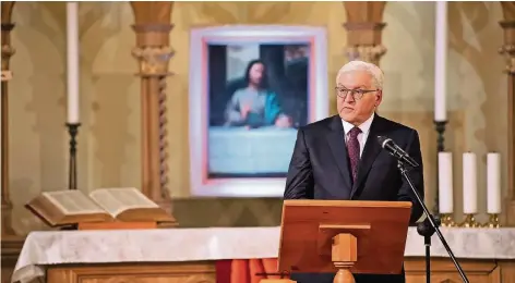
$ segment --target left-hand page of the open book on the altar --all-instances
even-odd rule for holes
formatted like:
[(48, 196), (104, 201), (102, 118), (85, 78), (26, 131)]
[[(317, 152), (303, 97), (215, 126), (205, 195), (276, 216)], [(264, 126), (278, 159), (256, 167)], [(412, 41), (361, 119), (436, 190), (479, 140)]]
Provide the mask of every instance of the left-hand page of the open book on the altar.
[(41, 195), (67, 216), (106, 213), (81, 190), (45, 192)]

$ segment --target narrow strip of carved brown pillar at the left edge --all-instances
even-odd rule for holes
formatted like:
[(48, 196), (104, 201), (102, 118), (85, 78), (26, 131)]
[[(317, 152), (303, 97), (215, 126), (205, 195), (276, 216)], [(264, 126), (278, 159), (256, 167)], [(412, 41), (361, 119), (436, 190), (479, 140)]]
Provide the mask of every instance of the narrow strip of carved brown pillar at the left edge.
[(12, 77), (12, 73), (9, 67), (9, 61), (14, 54), (14, 49), (11, 46), (11, 30), (14, 28), (14, 24), (11, 22), (12, 9), (15, 2), (2, 2), (1, 3), (1, 25), (2, 25), (2, 237), (4, 235), (14, 235), (11, 223), (11, 210), (12, 204), (9, 197), (9, 101), (8, 101), (8, 84)]

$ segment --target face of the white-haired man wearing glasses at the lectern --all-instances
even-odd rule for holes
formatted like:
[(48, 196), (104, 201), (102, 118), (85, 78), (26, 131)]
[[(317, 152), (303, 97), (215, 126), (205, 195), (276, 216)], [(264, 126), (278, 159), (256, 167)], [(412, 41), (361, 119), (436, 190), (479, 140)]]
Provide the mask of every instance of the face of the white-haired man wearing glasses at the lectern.
[[(359, 125), (372, 115), (381, 103), (382, 93), (376, 90), (372, 84), (372, 76), (364, 71), (354, 71), (342, 74), (336, 82), (337, 97), (336, 104), (338, 114), (344, 120), (354, 125)], [(362, 94), (350, 91), (344, 96), (345, 90), (374, 90), (362, 91)], [(359, 98), (362, 96), (361, 98)], [(355, 99), (356, 97), (356, 99)]]

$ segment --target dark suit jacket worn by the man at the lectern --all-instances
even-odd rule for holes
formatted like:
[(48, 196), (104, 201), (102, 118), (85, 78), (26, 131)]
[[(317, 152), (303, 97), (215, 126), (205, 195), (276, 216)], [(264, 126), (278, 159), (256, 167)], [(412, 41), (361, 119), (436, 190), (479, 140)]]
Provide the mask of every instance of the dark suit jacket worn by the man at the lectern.
[[(357, 199), (407, 200), (412, 202), (410, 222), (422, 216), (407, 182), (402, 177), (397, 160), (381, 148), (378, 136), (392, 138), (419, 164), (409, 175), (423, 197), (423, 173), (417, 131), (375, 114), (364, 144), (355, 184), (345, 143), (345, 132), (338, 115), (306, 125), (298, 131), (286, 181), (285, 199)], [(298, 283), (331, 283), (334, 274), (292, 274)], [(357, 283), (405, 282), (400, 275), (355, 274)]]

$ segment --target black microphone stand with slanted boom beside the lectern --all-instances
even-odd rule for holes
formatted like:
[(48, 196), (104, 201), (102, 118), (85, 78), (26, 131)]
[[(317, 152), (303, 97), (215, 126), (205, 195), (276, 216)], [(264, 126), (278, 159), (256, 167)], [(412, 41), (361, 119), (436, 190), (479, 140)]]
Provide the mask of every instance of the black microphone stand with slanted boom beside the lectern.
[[(423, 204), (422, 197), (420, 197), (420, 194), (418, 193), (417, 188), (415, 187), (411, 179), (409, 177), (407, 173), (407, 169), (404, 164), (403, 161), (397, 160), (397, 168), (400, 170), (400, 173), (406, 179), (406, 181), (409, 184), (409, 187), (414, 192), (415, 196), (417, 197), (418, 202), (423, 209), (423, 212), (426, 213), (426, 220), (419, 224), (417, 227), (417, 232), (421, 235), (424, 236), (424, 246), (426, 246), (426, 276), (427, 276), (427, 282), (430, 283), (431, 280), (431, 258), (430, 258), (430, 247), (431, 247), (431, 236), (433, 235), (434, 232), (436, 232), (436, 235), (439, 236), (440, 241), (442, 242), (442, 245), (445, 247), (445, 250), (447, 250), (448, 256), (451, 257), (451, 260), (453, 261), (454, 266), (456, 267), (459, 275), (463, 279), (463, 282), (469, 283), (467, 275), (465, 275), (465, 272), (462, 269), (462, 266), (458, 263), (456, 260), (456, 257), (454, 256), (453, 251), (451, 250), (451, 247), (447, 244), (447, 241), (445, 241), (444, 236), (442, 235), (442, 232), (440, 232), (439, 225), (440, 225), (440, 220), (435, 220), (434, 217), (429, 212), (428, 207), (426, 204)], [(420, 230), (419, 230), (420, 229)]]

